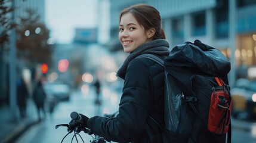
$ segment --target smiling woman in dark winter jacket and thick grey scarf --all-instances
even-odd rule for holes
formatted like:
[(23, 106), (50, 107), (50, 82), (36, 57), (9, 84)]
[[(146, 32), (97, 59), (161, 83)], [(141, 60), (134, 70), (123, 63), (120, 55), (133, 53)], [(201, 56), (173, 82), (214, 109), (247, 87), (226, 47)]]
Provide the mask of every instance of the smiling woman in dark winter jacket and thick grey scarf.
[[(159, 11), (146, 4), (125, 8), (119, 15), (119, 41), (129, 53), (117, 71), (124, 79), (119, 114), (110, 118), (81, 114), (81, 124), (110, 141), (162, 142), (164, 68), (153, 60), (136, 58), (150, 53), (164, 59), (169, 54)], [(70, 121), (72, 127), (77, 124)]]

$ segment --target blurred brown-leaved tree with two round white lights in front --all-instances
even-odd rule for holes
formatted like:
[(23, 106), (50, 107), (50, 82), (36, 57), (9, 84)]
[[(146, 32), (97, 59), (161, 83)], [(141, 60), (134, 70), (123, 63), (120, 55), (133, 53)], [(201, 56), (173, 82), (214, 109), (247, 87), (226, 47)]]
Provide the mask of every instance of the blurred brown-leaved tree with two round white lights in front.
[(53, 46), (47, 43), (50, 30), (45, 24), (39, 23), (39, 15), (35, 10), (26, 10), (27, 16), (20, 17), (20, 24), (16, 27), (17, 56), (23, 58), (31, 66), (47, 63), (51, 65)]

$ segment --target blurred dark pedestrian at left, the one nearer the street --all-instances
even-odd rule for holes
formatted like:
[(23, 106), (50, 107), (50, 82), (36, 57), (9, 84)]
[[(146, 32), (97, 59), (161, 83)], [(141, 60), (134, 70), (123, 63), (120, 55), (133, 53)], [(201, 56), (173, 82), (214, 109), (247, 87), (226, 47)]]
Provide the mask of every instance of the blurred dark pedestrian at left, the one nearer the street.
[(44, 118), (46, 116), (45, 108), (44, 108), (46, 95), (45, 95), (45, 91), (44, 91), (44, 87), (42, 85), (41, 79), (39, 79), (38, 82), (36, 83), (35, 88), (33, 89), (32, 97), (33, 97), (33, 101), (35, 102), (35, 105), (37, 108), (38, 120), (41, 121), (41, 119), (42, 119), (41, 111), (44, 114)]

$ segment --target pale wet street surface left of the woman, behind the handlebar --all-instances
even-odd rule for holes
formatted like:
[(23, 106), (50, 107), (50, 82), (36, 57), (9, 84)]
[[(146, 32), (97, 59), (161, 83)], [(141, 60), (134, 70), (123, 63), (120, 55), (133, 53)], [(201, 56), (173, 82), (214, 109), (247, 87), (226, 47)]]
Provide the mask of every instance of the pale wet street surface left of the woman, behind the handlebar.
[[(106, 90), (106, 89), (105, 89)], [(103, 96), (103, 103), (100, 108), (95, 107), (94, 99), (95, 93), (94, 90), (90, 90), (87, 95), (82, 95), (81, 92), (75, 91), (72, 94), (69, 102), (60, 102), (52, 116), (47, 114), (47, 119), (38, 125), (33, 126), (27, 132), (23, 133), (20, 138), (17, 139), (17, 143), (45, 143), (45, 142), (61, 142), (61, 139), (67, 134), (66, 127), (60, 127), (55, 129), (55, 125), (64, 124), (70, 122), (70, 113), (72, 111), (77, 111), (78, 113), (83, 113), (88, 117), (95, 115), (103, 115), (103, 113), (111, 114), (115, 113), (118, 109), (119, 99), (116, 97), (114, 91), (105, 91), (106, 93)], [(113, 104), (113, 101), (118, 101), (116, 104)], [(84, 132), (80, 133), (84, 142), (90, 142), (92, 137), (85, 134)], [(71, 142), (73, 133), (70, 133), (63, 142)], [(79, 139), (79, 136), (78, 136)], [(75, 141), (75, 138), (73, 140)], [(82, 142), (81, 140), (79, 142)]]

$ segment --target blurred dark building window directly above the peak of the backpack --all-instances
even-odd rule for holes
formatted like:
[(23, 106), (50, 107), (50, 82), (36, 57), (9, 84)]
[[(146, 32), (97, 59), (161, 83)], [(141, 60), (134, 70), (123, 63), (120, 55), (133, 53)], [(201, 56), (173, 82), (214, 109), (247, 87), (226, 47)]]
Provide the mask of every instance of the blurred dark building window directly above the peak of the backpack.
[(205, 11), (192, 15), (192, 35), (204, 36), (206, 35), (206, 21)]

